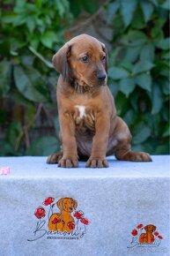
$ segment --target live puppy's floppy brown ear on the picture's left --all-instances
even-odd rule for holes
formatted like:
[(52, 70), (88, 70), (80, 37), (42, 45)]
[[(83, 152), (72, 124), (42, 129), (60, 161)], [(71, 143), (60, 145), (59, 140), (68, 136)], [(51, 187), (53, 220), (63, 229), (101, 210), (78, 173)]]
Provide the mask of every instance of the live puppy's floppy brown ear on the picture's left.
[(55, 70), (63, 75), (63, 80), (68, 76), (68, 61), (67, 56), (70, 53), (70, 45), (65, 43), (61, 49), (59, 49), (52, 58), (52, 63)]

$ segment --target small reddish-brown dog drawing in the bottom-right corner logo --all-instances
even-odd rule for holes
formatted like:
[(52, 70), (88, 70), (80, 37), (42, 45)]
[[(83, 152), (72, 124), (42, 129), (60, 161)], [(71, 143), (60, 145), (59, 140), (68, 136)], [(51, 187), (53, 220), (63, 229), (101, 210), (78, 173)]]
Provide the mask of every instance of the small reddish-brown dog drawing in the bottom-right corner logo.
[(150, 224), (144, 227), (144, 230), (146, 231), (146, 233), (142, 233), (139, 237), (139, 243), (144, 244), (151, 244), (152, 242), (154, 242), (154, 236), (153, 236), (153, 232), (157, 229), (157, 227), (155, 227), (154, 225)]

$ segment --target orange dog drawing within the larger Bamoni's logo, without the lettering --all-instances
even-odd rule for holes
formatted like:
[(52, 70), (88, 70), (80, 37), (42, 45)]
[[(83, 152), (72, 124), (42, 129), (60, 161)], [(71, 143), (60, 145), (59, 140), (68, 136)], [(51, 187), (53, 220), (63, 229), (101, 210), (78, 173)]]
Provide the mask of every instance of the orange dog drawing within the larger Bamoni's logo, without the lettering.
[(72, 198), (62, 198), (56, 204), (61, 212), (51, 215), (48, 222), (48, 230), (67, 231), (70, 233), (75, 229), (75, 222), (71, 213), (78, 207), (78, 202)]

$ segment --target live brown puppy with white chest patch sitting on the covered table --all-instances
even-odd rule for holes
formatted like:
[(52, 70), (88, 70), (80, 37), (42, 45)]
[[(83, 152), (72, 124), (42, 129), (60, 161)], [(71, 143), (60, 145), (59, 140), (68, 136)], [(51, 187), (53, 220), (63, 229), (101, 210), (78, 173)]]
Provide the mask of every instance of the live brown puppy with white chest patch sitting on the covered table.
[[(127, 124), (117, 117), (115, 101), (107, 87), (107, 49), (87, 34), (80, 34), (53, 57), (60, 77), (57, 104), (62, 152), (48, 156), (48, 163), (78, 167), (78, 157), (87, 158), (86, 167), (107, 167), (106, 155), (118, 160), (148, 162), (149, 154), (130, 150)], [(128, 85), (127, 85), (128, 86)]]

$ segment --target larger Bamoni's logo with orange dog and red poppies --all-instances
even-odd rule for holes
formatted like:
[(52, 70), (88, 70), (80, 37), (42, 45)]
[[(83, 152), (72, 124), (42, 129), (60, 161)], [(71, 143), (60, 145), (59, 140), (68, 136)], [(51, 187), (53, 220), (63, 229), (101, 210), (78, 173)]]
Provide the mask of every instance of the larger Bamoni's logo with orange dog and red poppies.
[[(38, 219), (33, 238), (27, 241), (35, 241), (41, 237), (47, 239), (79, 239), (86, 233), (89, 224), (83, 211), (78, 210), (78, 201), (72, 198), (57, 200), (48, 197), (43, 207), (35, 209), (34, 215)], [(56, 209), (55, 209), (56, 208)]]

